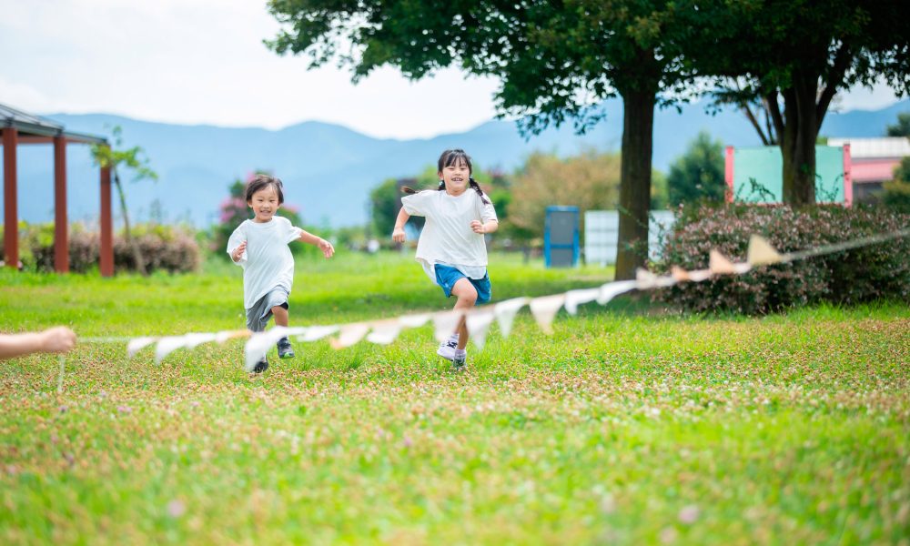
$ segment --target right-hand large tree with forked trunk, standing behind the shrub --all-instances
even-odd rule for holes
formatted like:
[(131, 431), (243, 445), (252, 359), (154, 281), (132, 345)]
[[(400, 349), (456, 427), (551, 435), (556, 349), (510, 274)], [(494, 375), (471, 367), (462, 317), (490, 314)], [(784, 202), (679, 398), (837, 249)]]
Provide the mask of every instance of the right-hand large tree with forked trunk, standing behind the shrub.
[[(683, 44), (694, 70), (717, 76), (715, 96), (743, 107), (784, 160), (784, 202), (815, 202), (815, 143), (834, 96), (883, 78), (910, 92), (903, 0), (731, 0), (699, 5), (710, 32)], [(686, 12), (691, 15), (691, 12)], [(693, 24), (696, 21), (693, 20)], [(761, 123), (750, 106), (762, 106)]]

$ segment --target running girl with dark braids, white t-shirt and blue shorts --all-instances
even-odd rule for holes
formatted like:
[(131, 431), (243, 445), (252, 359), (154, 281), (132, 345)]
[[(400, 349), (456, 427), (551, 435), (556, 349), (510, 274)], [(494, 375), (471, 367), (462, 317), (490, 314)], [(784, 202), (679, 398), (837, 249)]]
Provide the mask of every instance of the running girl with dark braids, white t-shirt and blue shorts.
[[(470, 157), (464, 150), (442, 152), (438, 167), (437, 189), (415, 192), (410, 187), (402, 188), (413, 195), (401, 197), (392, 239), (403, 243), (408, 218), (426, 217), (417, 243), (417, 261), (446, 298), (457, 298), (455, 309), (466, 310), (490, 301), (492, 289), (483, 236), (496, 231), (499, 220), (490, 199), (470, 177)], [(468, 328), (461, 319), (450, 339), (442, 342), (436, 352), (461, 369), (468, 359), (467, 345)]]

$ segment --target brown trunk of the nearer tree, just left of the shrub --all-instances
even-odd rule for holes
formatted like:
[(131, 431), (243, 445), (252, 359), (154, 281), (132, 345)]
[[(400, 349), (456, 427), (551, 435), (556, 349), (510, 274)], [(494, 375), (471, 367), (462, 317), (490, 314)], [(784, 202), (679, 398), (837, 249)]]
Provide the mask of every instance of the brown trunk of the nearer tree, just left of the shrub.
[(656, 86), (653, 89), (624, 89), (621, 94), (622, 175), (617, 280), (635, 278), (635, 269), (644, 266), (648, 256)]

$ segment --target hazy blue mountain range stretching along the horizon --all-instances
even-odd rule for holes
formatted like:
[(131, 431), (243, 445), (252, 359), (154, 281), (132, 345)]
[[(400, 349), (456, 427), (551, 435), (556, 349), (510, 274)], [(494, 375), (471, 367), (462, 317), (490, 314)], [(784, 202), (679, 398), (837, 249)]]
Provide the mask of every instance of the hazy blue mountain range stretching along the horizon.
[[(309, 226), (350, 226), (369, 217), (369, 191), (389, 177), (413, 177), (433, 165), (448, 147), (464, 148), (475, 167), (507, 172), (520, 167), (534, 151), (562, 157), (584, 149), (618, 151), (622, 141), (622, 103), (604, 103), (606, 118), (583, 136), (571, 125), (550, 128), (525, 139), (514, 122), (495, 120), (463, 133), (399, 140), (373, 138), (343, 126), (305, 122), (280, 130), (257, 127), (187, 126), (155, 123), (109, 114), (48, 114), (67, 130), (109, 135), (123, 129), (124, 146), (141, 146), (156, 182), (129, 181), (127, 204), (136, 220), (158, 217), (196, 227), (217, 223), (227, 187), (255, 169), (281, 177), (288, 204), (299, 207)], [(882, 136), (897, 114), (910, 111), (910, 100), (875, 111), (829, 112), (823, 136)], [(760, 144), (752, 126), (735, 110), (716, 115), (703, 105), (660, 110), (654, 118), (653, 165), (667, 171), (702, 130), (724, 145)], [(88, 148), (67, 147), (68, 214), (95, 221), (98, 173)], [(53, 218), (53, 152), (50, 146), (20, 146), (19, 217), (28, 222)], [(521, 197), (518, 197), (521, 198)], [(118, 209), (116, 209), (118, 212)]]

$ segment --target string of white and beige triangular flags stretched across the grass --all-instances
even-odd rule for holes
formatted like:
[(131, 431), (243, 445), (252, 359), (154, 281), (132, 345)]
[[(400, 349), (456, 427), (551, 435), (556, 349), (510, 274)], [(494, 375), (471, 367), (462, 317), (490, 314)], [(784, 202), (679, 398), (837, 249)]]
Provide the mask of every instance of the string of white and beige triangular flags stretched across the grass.
[(552, 322), (561, 308), (565, 308), (570, 315), (576, 315), (578, 308), (586, 303), (596, 301), (606, 305), (612, 298), (631, 290), (650, 290), (654, 288), (667, 288), (682, 282), (702, 282), (720, 275), (742, 275), (753, 268), (773, 264), (789, 263), (797, 259), (810, 258), (841, 252), (850, 248), (859, 248), (893, 238), (910, 236), (910, 228), (887, 234), (867, 238), (859, 238), (833, 245), (811, 248), (800, 252), (781, 253), (768, 243), (764, 238), (753, 235), (749, 239), (746, 252), (746, 261), (733, 262), (716, 249), (709, 255), (708, 268), (685, 270), (672, 267), (670, 274), (658, 276), (646, 269), (638, 269), (634, 280), (619, 280), (608, 282), (600, 287), (573, 289), (562, 294), (541, 296), (537, 298), (519, 297), (498, 302), (493, 305), (480, 306), (470, 310), (450, 310), (431, 313), (418, 313), (404, 315), (391, 319), (377, 319), (349, 324), (329, 326), (304, 326), (281, 327), (275, 326), (263, 332), (250, 332), (249, 330), (226, 330), (214, 333), (187, 333), (181, 336), (140, 338), (86, 338), (84, 342), (122, 342), (126, 341), (126, 353), (129, 358), (152, 344), (155, 344), (155, 361), (160, 362), (167, 355), (177, 349), (195, 349), (203, 343), (225, 343), (228, 339), (246, 338), (244, 348), (244, 369), (252, 371), (259, 359), (262, 359), (277, 342), (284, 337), (295, 337), (298, 341), (311, 342), (329, 338), (329, 345), (334, 349), (344, 349), (362, 339), (371, 343), (388, 345), (398, 339), (402, 329), (420, 328), (431, 322), (434, 337), (442, 342), (449, 339), (452, 331), (456, 329), (461, 319), (465, 320), (471, 341), (479, 349), (487, 338), (487, 332), (493, 321), (499, 324), (503, 338), (510, 335), (515, 315), (521, 308), (528, 306), (531, 309), (537, 325), (541, 330), (552, 334)]

